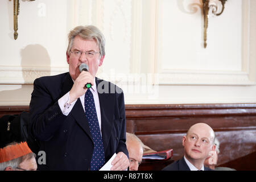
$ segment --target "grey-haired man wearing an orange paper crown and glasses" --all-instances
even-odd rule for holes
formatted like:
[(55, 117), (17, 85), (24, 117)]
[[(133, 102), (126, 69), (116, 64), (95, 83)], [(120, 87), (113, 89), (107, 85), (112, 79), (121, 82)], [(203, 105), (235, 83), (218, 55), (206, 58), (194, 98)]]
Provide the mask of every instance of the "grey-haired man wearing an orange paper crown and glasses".
[(36, 155), (27, 142), (13, 142), (0, 149), (0, 171), (36, 171)]

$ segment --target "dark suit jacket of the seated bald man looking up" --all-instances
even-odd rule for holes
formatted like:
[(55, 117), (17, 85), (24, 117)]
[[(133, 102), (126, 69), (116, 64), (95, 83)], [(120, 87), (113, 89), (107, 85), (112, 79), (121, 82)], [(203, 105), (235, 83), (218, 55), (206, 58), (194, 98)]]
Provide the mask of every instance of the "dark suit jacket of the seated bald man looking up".
[[(162, 171), (190, 171), (188, 164), (185, 162), (184, 156), (180, 160), (166, 166)], [(212, 169), (204, 166), (204, 171), (213, 171)]]

